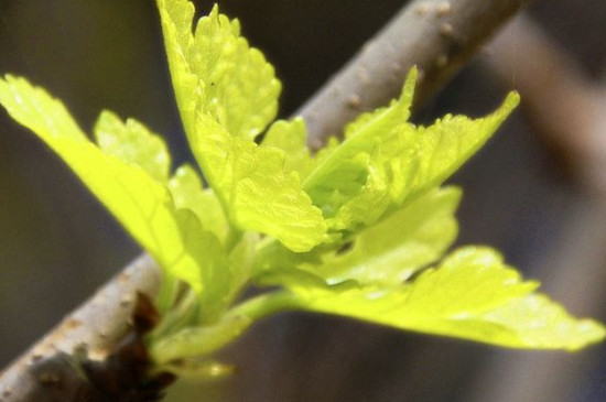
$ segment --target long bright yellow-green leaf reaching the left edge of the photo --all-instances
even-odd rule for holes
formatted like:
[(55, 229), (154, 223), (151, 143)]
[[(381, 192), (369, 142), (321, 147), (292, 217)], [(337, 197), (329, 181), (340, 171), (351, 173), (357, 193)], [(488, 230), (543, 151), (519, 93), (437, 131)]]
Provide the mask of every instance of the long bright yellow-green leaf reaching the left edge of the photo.
[[(158, 261), (166, 280), (178, 278), (202, 291), (202, 260), (193, 256), (201, 249), (199, 243), (208, 239), (202, 235), (193, 215), (177, 214), (164, 185), (138, 165), (102, 153), (87, 139), (61, 101), (23, 78), (8, 75), (6, 80), (0, 79), (0, 104), (69, 165)], [(205, 264), (213, 261), (212, 254), (205, 259)]]

